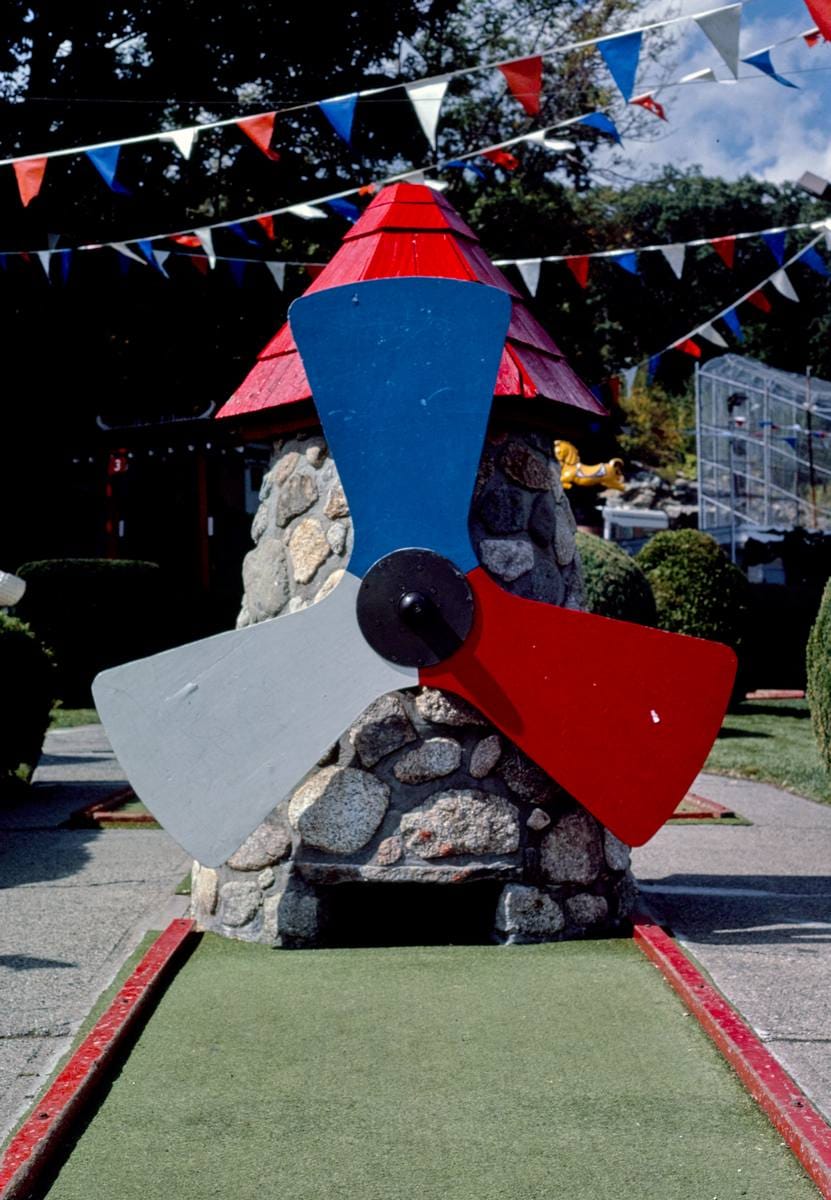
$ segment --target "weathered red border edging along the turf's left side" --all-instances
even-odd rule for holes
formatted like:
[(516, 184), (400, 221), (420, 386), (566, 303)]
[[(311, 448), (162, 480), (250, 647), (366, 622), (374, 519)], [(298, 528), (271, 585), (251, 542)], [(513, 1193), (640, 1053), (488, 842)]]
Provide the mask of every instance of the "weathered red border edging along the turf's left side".
[(32, 1188), (195, 929), (193, 920), (171, 922), (35, 1105), (0, 1159), (0, 1200), (18, 1200)]

